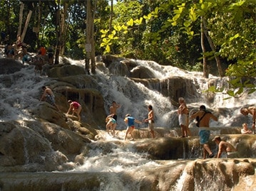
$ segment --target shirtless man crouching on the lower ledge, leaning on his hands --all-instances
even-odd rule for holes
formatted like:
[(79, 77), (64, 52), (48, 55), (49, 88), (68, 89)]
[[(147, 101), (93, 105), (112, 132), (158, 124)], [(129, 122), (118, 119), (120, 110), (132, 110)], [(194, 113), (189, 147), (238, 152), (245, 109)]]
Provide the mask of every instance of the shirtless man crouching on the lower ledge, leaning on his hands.
[(220, 136), (215, 136), (215, 138), (213, 138), (213, 141), (215, 141), (215, 143), (219, 147), (215, 158), (220, 158), (220, 155), (223, 152), (227, 153), (227, 158), (238, 158), (237, 149), (234, 146), (232, 146), (232, 144), (227, 143), (225, 141), (221, 141)]

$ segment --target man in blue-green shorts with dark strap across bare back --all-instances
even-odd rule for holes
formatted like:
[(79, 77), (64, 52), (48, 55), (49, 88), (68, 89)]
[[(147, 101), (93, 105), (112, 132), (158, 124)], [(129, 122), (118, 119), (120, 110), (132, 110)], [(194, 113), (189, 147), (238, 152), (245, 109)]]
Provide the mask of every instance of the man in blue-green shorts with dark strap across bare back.
[(199, 136), (200, 144), (203, 145), (203, 158), (206, 158), (206, 152), (208, 152), (210, 158), (213, 158), (213, 152), (210, 150), (210, 146), (208, 144), (210, 138), (209, 123), (210, 119), (217, 121), (217, 117), (207, 111), (204, 105), (200, 106), (200, 110), (191, 115), (190, 119), (195, 119), (196, 117), (200, 119)]

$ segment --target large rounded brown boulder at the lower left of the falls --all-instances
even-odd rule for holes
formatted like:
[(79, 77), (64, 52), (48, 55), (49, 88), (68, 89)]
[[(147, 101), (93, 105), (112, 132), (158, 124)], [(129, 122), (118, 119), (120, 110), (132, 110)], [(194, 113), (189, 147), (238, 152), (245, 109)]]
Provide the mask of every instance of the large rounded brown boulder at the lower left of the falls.
[(90, 142), (81, 133), (49, 122), (0, 122), (0, 169), (4, 172), (65, 170), (70, 168), (66, 163), (74, 161)]

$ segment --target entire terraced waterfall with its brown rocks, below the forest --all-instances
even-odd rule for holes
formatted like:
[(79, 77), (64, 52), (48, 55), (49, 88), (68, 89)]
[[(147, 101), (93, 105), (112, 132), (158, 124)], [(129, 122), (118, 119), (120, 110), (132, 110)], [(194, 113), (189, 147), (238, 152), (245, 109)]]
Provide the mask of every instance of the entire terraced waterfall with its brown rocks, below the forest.
[[(7, 61), (0, 75), (0, 190), (256, 190), (256, 136), (240, 134), (241, 124), (250, 126), (252, 118), (239, 112), (255, 104), (255, 94), (225, 102), (220, 94), (204, 93), (225, 79), (112, 55), (99, 59), (96, 75), (86, 75), (75, 60), (47, 67), (47, 76)], [(43, 85), (53, 90), (61, 111), (39, 101)], [(220, 135), (240, 158), (200, 159), (193, 121), (192, 136), (179, 137), (178, 97), (190, 111), (200, 104), (213, 111), (219, 121), (211, 121), (210, 139)], [(66, 114), (68, 99), (81, 104), (81, 121)], [(113, 101), (121, 104), (114, 138), (105, 131)], [(156, 138), (143, 123), (135, 126), (135, 141), (123, 141), (123, 117), (145, 119), (148, 104), (155, 111)]]

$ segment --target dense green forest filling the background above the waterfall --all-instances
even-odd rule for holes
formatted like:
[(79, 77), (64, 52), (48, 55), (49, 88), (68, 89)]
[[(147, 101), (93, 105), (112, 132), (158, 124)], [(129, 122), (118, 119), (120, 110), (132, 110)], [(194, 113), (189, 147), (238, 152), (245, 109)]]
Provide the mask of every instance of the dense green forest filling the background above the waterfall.
[[(88, 4), (93, 23), (86, 23)], [(95, 55), (155, 60), (205, 77), (227, 75), (231, 96), (245, 87), (255, 91), (255, 0), (0, 0), (0, 6), (0, 28), (10, 42), (32, 11), (24, 36), (30, 51), (54, 45), (59, 55), (84, 59), (90, 26)]]

